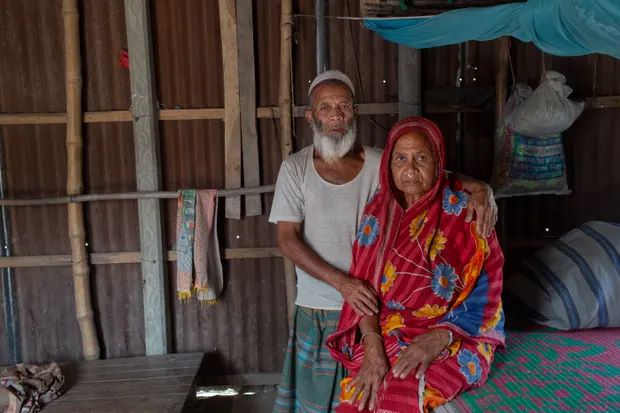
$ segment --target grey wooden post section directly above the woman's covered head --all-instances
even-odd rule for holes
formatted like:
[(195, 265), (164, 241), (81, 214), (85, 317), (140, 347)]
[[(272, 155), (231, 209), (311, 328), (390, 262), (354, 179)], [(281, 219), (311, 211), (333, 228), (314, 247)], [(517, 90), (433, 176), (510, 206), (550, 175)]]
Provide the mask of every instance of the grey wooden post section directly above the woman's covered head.
[(420, 116), (420, 50), (398, 46), (398, 118)]

